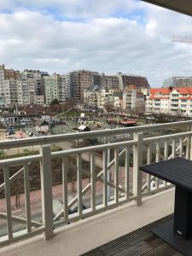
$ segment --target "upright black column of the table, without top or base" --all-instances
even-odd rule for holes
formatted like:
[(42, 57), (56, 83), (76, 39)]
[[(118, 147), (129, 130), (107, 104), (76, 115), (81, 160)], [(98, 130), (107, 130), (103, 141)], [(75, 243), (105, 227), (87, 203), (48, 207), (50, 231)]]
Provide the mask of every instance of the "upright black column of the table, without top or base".
[(176, 187), (173, 230), (183, 239), (192, 236), (192, 194)]

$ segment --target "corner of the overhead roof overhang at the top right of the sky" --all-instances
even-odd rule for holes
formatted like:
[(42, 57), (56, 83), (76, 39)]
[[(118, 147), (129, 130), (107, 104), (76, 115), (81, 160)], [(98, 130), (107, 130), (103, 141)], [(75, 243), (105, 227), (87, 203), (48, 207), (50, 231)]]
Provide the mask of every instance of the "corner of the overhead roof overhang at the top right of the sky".
[(143, 2), (153, 3), (166, 9), (172, 9), (183, 15), (192, 16), (191, 0), (142, 0)]

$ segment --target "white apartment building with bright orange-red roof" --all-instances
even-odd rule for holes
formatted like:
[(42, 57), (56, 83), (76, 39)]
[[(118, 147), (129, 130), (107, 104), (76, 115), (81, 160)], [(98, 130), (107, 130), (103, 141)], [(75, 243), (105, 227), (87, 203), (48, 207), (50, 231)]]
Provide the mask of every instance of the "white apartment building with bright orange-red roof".
[(192, 87), (151, 89), (146, 112), (192, 116)]

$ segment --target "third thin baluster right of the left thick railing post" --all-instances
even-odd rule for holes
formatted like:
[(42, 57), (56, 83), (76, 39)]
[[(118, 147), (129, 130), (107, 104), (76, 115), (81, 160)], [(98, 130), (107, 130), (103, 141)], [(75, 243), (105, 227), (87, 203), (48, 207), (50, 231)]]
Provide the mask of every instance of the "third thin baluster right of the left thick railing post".
[(96, 210), (96, 154), (95, 152), (90, 154), (90, 184), (91, 184), (91, 196), (90, 205), (91, 210)]

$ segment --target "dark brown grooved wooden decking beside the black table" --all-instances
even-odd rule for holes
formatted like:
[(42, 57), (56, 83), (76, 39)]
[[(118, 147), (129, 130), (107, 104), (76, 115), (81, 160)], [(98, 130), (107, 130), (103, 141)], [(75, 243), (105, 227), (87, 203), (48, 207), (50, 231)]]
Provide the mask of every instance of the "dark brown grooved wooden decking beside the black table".
[(162, 218), (153, 224), (148, 224), (81, 256), (183, 256), (182, 253), (178, 253), (173, 247), (159, 237), (154, 236), (150, 231), (154, 225), (165, 222), (169, 218), (171, 216)]

